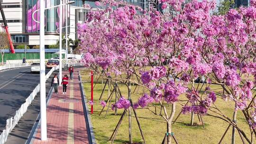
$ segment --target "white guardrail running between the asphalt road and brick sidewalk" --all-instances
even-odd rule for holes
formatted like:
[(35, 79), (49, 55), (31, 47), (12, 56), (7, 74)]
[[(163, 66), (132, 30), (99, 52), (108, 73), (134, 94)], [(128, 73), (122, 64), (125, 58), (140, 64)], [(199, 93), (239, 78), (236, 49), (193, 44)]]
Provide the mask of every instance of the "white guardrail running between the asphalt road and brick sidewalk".
[[(47, 74), (46, 80), (51, 76), (52, 72), (57, 70), (59, 66), (53, 67)], [(6, 120), (6, 129), (3, 130), (0, 135), (0, 144), (4, 144), (7, 141), (7, 137), (11, 130), (18, 124), (18, 121), (23, 115), (27, 112), (28, 106), (32, 103), (33, 99), (36, 97), (37, 93), (40, 91), (40, 84), (33, 90), (33, 92), (27, 97), (26, 102), (21, 105), (21, 107), (16, 110), (16, 114), (14, 117), (11, 117)]]

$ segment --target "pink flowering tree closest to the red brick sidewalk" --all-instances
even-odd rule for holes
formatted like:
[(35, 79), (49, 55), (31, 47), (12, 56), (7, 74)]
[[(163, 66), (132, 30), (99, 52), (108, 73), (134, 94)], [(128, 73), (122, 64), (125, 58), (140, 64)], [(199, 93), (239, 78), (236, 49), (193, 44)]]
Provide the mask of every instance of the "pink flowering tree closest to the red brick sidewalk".
[[(78, 26), (81, 51), (84, 53), (82, 62), (95, 71), (98, 71), (97, 67), (108, 71), (105, 76), (107, 79), (110, 79), (108, 76), (111, 74), (126, 75), (124, 78), (115, 80), (127, 85), (128, 99), (122, 97), (112, 105), (112, 108), (128, 109), (129, 141), (132, 143), (131, 77), (147, 64), (144, 42), (147, 34), (146, 27), (149, 27), (146, 19), (148, 16), (143, 14), (142, 9), (137, 9), (134, 6), (112, 10), (112, 7), (117, 6), (118, 3), (110, 2), (111, 7), (91, 11), (87, 21)], [(137, 11), (142, 14), (137, 15)]]

